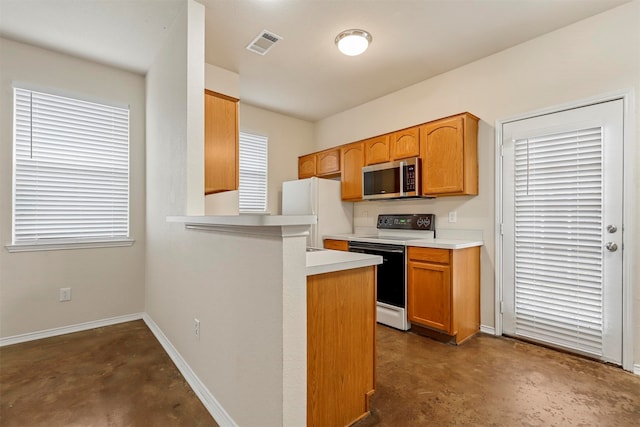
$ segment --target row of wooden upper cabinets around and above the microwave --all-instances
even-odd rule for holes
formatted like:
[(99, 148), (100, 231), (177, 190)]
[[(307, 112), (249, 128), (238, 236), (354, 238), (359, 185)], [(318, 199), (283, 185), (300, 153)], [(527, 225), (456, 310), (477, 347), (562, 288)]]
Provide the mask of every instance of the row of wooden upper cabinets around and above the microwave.
[(342, 200), (362, 200), (362, 167), (420, 157), (423, 196), (478, 194), (478, 118), (470, 113), (298, 157), (298, 178), (341, 176)]

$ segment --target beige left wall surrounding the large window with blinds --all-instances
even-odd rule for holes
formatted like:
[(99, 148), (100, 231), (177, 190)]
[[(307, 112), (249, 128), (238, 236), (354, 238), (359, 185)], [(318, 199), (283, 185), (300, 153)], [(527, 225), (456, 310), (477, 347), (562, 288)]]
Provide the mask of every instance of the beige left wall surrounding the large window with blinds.
[[(144, 77), (0, 39), (0, 244), (11, 243), (13, 90), (18, 81), (130, 106), (132, 247), (9, 253), (0, 249), (0, 336), (144, 311)], [(72, 301), (58, 289), (72, 288)]]

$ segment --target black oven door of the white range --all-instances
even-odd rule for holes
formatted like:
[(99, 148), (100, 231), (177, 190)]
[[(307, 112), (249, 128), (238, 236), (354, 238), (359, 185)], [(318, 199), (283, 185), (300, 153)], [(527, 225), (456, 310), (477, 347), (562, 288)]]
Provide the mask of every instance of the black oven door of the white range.
[(380, 255), (383, 261), (378, 265), (376, 299), (378, 302), (405, 308), (405, 247), (380, 243), (349, 242), (349, 252)]

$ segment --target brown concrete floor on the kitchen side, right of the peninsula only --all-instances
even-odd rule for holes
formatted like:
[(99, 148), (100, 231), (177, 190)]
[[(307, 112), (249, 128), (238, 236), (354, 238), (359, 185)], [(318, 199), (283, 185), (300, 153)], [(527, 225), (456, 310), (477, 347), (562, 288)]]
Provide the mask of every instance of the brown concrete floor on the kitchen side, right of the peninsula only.
[(480, 334), (459, 347), (378, 326), (369, 426), (640, 426), (640, 376)]

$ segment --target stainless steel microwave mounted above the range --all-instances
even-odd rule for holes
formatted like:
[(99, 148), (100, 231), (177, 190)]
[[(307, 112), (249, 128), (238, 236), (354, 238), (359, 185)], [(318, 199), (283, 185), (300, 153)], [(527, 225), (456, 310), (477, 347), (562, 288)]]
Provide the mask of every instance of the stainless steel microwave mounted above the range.
[(380, 163), (362, 168), (362, 198), (420, 197), (420, 158)]

